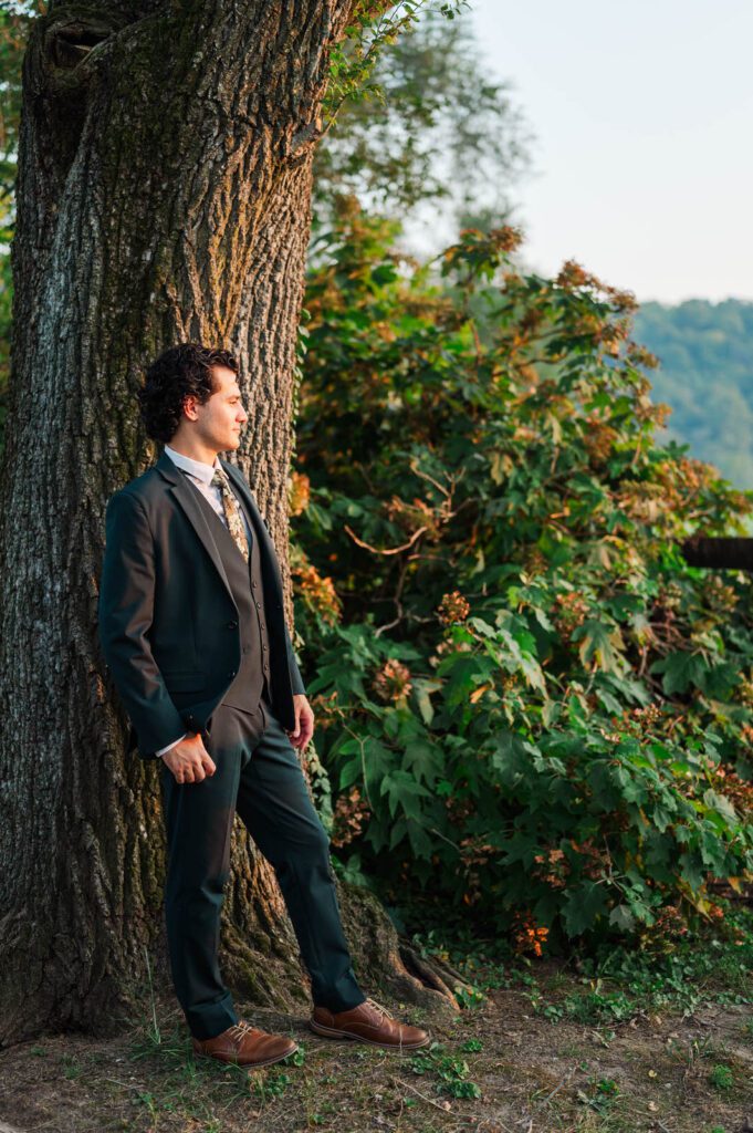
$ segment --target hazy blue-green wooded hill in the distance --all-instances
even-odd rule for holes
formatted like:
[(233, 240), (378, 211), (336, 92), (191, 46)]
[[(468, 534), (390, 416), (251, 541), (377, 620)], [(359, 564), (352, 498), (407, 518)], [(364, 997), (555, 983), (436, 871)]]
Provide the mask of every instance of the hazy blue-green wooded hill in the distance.
[(753, 303), (647, 303), (635, 338), (661, 361), (651, 381), (653, 400), (673, 408), (667, 435), (753, 488)]

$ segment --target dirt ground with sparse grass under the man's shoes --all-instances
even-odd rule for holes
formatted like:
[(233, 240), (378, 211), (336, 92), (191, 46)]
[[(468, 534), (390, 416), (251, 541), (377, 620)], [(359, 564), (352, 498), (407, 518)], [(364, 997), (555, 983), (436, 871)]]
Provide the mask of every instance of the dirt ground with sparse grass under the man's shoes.
[[(549, 1016), (583, 994), (554, 965), (544, 976)], [(51, 1034), (0, 1053), (0, 1133), (753, 1133), (753, 1010), (713, 998), (687, 1017), (594, 1024), (548, 1017), (525, 987), (488, 990), (412, 1055), (323, 1039), (302, 1015), (239, 1000), (300, 1046), (250, 1073), (195, 1060), (174, 1002), (159, 999), (159, 1041), (145, 1016), (114, 1040)]]

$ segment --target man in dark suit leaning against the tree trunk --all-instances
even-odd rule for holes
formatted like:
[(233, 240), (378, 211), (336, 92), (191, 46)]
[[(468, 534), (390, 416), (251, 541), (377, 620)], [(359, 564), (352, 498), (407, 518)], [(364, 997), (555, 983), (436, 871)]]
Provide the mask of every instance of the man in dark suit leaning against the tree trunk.
[(240, 1020), (217, 966), (237, 811), (272, 863), (319, 1034), (413, 1049), (428, 1034), (359, 988), (328, 840), (294, 749), (314, 713), (283, 615), (280, 569), (246, 479), (220, 459), (248, 419), (225, 350), (182, 343), (138, 392), (157, 462), (110, 499), (100, 639), (130, 718), (129, 750), (161, 758), (165, 919), (176, 993), (196, 1053), (246, 1066), (298, 1048)]

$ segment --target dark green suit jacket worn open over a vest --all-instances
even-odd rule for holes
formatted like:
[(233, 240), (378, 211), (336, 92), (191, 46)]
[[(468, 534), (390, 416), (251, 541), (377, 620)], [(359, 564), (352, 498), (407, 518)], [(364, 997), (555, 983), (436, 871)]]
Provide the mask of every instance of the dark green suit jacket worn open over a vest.
[[(305, 692), (283, 614), (272, 537), (246, 479), (220, 458), (259, 542), (272, 707), (296, 726)], [(108, 501), (100, 641), (130, 719), (128, 750), (153, 757), (206, 724), (240, 667), (238, 607), (197, 489), (166, 453)]]

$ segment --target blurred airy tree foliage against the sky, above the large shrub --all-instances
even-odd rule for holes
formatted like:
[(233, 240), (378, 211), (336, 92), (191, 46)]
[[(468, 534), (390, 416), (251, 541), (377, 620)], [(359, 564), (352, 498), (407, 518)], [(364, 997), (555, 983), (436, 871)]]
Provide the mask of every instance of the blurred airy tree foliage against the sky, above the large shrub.
[(402, 219), (442, 201), (450, 230), (468, 210), (498, 216), (510, 207), (530, 137), (508, 85), (485, 74), (468, 7), (356, 9), (331, 58), (314, 159), (316, 233), (348, 193)]

